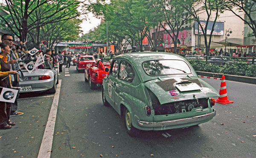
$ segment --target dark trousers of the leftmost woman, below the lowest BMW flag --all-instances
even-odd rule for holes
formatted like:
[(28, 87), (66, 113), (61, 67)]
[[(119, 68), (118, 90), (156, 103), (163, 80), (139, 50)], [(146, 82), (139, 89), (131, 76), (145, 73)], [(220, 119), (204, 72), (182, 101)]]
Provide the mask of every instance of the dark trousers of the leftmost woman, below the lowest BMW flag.
[(10, 119), (11, 103), (0, 101), (0, 124)]

